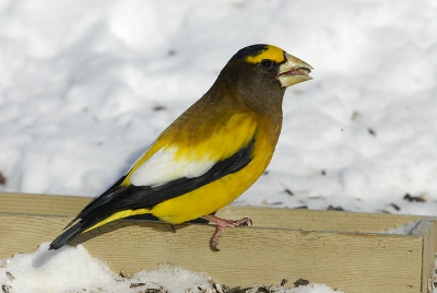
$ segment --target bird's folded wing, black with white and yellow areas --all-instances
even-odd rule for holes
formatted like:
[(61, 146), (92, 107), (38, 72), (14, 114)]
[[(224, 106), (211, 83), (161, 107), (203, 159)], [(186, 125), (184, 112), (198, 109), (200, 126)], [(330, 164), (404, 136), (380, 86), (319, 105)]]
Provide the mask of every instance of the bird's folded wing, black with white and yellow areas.
[[(239, 121), (235, 117), (233, 120)], [(152, 145), (127, 175), (92, 201), (76, 219), (86, 221), (128, 209), (151, 209), (240, 171), (252, 160), (257, 124), (246, 117), (239, 126), (224, 128), (206, 144), (199, 141), (180, 148), (164, 145), (151, 155)]]

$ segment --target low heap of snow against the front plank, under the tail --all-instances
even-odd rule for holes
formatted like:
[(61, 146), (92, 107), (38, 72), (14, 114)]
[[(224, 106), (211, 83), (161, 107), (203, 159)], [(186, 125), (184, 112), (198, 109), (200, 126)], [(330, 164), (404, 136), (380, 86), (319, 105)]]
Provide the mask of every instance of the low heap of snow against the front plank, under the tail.
[[(144, 292), (155, 289), (161, 290), (158, 292), (215, 293), (214, 286), (223, 290), (205, 273), (174, 265), (158, 263), (149, 271), (122, 276), (93, 258), (82, 245), (64, 246), (59, 250), (48, 250), (48, 247), (49, 243), (43, 243), (33, 254), (15, 254), (13, 258), (0, 261), (3, 288), (10, 292)], [(256, 293), (255, 288), (259, 286), (253, 285), (253, 290), (246, 292)], [(294, 289), (277, 285), (275, 290), (279, 293), (334, 292), (315, 283)]]

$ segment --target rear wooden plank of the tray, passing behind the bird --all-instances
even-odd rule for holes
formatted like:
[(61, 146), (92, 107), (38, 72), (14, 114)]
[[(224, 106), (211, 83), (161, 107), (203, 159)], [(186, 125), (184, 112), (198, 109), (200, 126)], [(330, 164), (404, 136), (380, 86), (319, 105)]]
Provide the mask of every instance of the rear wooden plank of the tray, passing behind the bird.
[[(0, 212), (75, 216), (92, 198), (0, 192)], [(380, 232), (422, 216), (386, 213), (311, 211), (300, 209), (227, 206), (216, 213), (226, 219), (248, 216), (253, 226), (300, 228), (308, 231)]]

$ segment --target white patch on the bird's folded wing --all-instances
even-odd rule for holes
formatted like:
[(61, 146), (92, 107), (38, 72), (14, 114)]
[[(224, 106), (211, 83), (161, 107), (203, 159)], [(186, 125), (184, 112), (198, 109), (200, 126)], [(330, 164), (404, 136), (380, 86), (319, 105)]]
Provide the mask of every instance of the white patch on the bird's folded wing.
[(161, 149), (130, 175), (135, 186), (160, 186), (179, 178), (193, 178), (205, 174), (216, 162), (175, 161), (176, 148)]

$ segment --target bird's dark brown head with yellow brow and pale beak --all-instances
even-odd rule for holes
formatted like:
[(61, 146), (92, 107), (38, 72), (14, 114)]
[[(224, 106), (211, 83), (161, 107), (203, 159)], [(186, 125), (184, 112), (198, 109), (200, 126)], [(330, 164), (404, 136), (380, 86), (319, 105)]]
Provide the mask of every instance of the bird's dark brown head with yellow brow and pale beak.
[(279, 116), (285, 89), (310, 80), (312, 68), (272, 45), (252, 45), (237, 51), (211, 87), (208, 98), (231, 98), (257, 113)]

